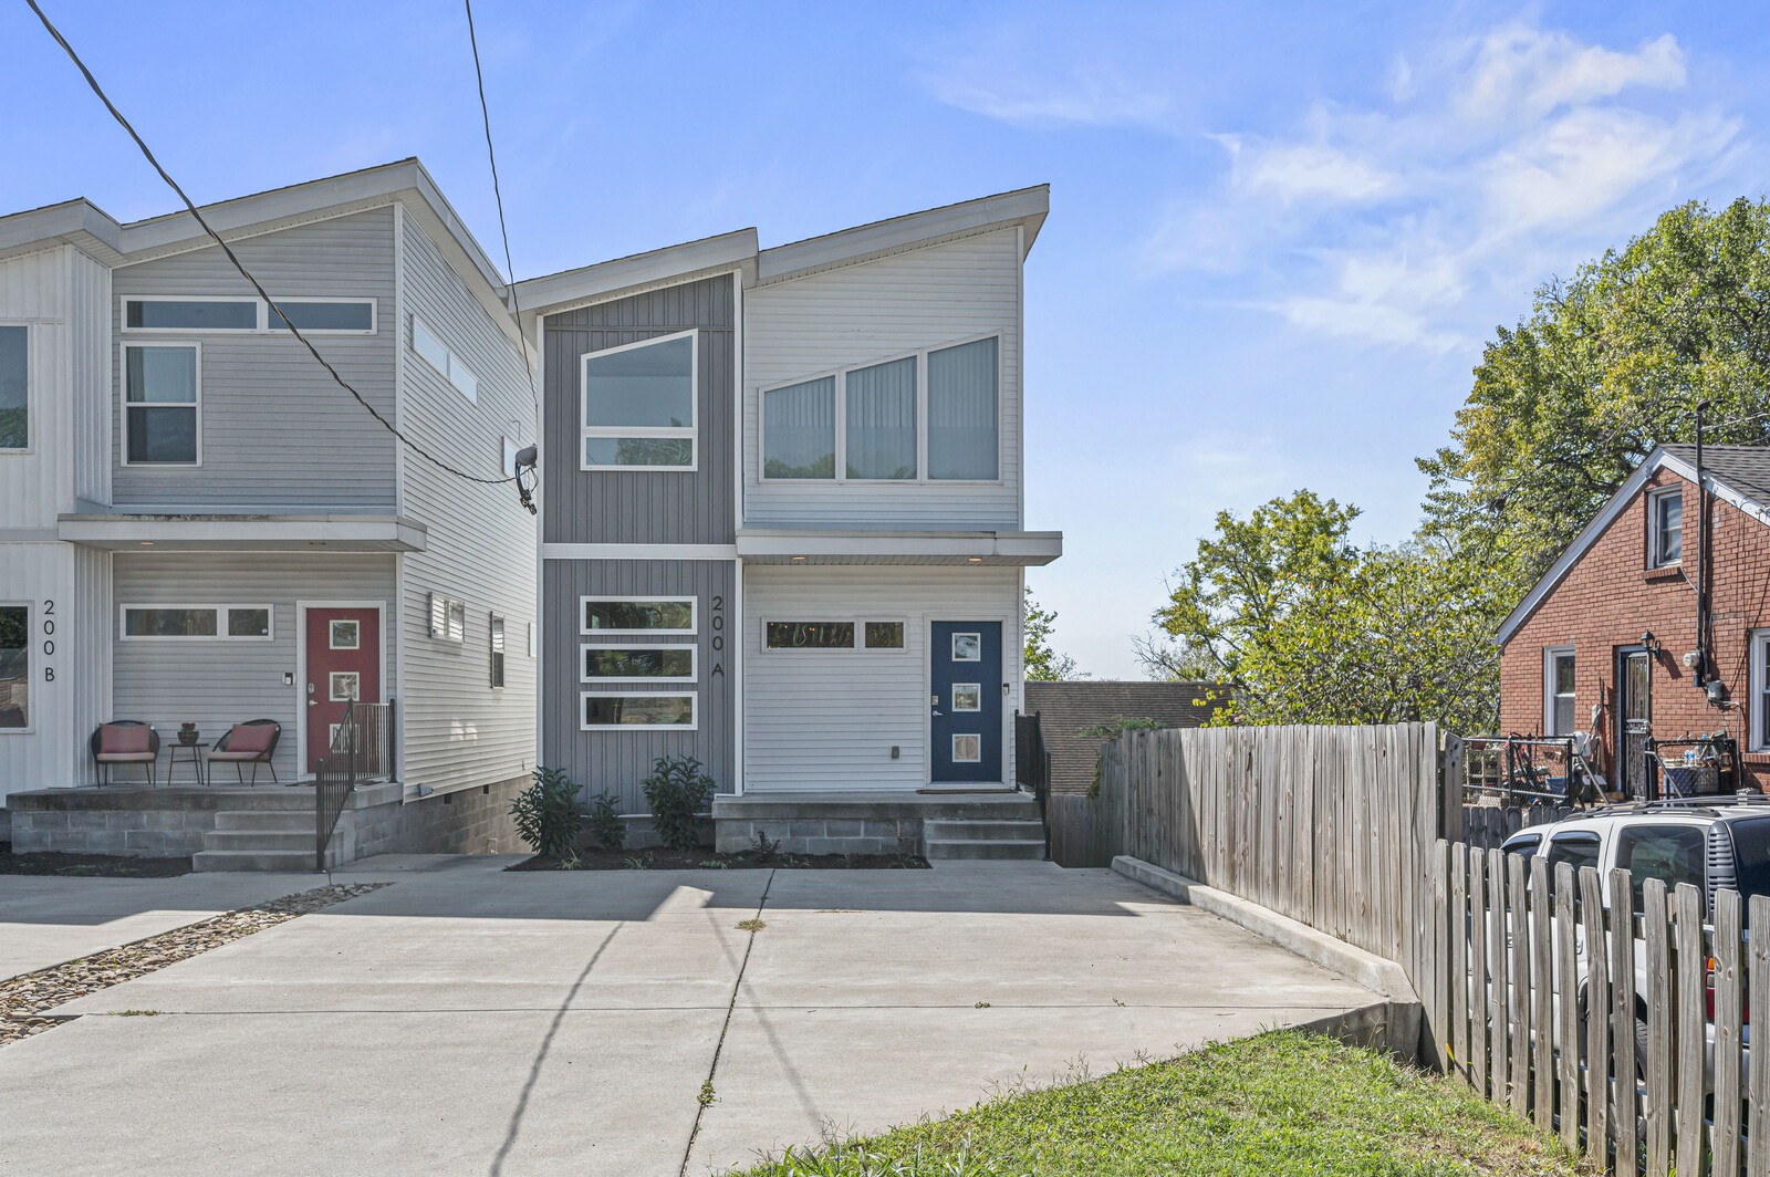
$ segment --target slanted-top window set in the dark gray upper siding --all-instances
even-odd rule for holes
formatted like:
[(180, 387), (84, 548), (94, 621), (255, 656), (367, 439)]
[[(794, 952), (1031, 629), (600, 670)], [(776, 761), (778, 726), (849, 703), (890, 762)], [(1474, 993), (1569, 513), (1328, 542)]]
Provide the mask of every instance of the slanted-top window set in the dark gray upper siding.
[(589, 352), (582, 365), (582, 469), (696, 467), (694, 331)]

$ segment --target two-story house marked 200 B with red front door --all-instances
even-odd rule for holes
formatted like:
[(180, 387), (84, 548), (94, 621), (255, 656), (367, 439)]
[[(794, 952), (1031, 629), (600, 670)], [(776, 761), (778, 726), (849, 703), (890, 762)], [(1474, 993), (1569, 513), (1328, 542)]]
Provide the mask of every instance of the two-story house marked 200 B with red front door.
[[(12, 841), (312, 864), (312, 825), (216, 814), (312, 809), (299, 782), (354, 699), (391, 704), (395, 781), (363, 793), (343, 853), (487, 850), (535, 765), (535, 526), (510, 485), (444, 465), (501, 478), (535, 439), (508, 292), (414, 159), (205, 216), (412, 444), (189, 214), (119, 225), (71, 200), (0, 218)], [(257, 800), (223, 765), (184, 788), (181, 724), (212, 745), (255, 719), (280, 726)], [(69, 788), (96, 784), (110, 720), (159, 733), (156, 781), (175, 788), (140, 788), (136, 768)]]

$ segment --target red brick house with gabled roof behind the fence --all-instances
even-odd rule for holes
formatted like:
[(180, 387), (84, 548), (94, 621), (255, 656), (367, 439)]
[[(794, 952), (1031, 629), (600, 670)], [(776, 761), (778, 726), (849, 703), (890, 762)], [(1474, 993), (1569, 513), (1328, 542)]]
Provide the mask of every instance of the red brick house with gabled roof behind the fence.
[(1641, 791), (1641, 736), (1720, 731), (1747, 782), (1770, 784), (1770, 448), (1701, 462), (1648, 455), (1499, 627), (1501, 729), (1591, 733), (1612, 791)]

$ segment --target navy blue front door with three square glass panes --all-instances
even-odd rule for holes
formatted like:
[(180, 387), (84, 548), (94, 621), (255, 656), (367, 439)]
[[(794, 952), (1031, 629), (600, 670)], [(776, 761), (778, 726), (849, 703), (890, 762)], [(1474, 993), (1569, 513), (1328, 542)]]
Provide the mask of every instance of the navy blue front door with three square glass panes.
[(935, 784), (1002, 781), (1002, 623), (935, 621), (929, 634)]

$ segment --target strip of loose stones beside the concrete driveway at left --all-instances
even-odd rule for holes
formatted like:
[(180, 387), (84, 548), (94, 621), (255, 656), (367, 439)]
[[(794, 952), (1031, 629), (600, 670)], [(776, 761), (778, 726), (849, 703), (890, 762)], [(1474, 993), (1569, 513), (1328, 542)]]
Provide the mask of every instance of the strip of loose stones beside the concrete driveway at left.
[(297, 915), (329, 908), (345, 899), (366, 896), (382, 887), (391, 887), (391, 883), (319, 887), (304, 890), (299, 896), (283, 896), (281, 899), (271, 899), (237, 912), (225, 912), (214, 919), (173, 927), (147, 940), (83, 956), (78, 961), (0, 981), (0, 1046), (41, 1034), (64, 1021), (73, 1021), (78, 1014), (48, 1014), (42, 1011), (55, 1009), (76, 996), (97, 993), (124, 981), (135, 981), (166, 965), (177, 965), (209, 949), (219, 949), (223, 943), (250, 936), (255, 931), (274, 927)]

